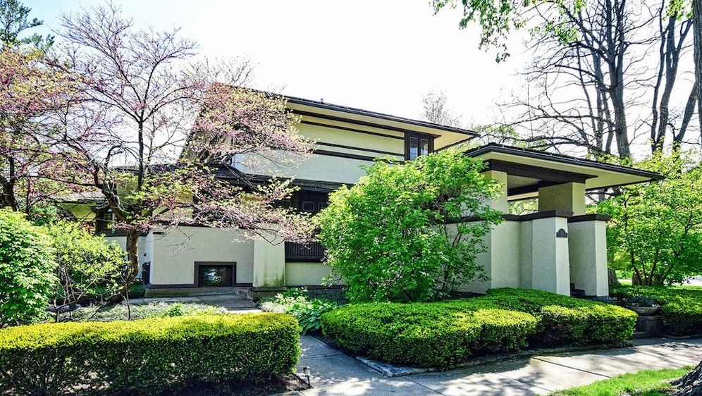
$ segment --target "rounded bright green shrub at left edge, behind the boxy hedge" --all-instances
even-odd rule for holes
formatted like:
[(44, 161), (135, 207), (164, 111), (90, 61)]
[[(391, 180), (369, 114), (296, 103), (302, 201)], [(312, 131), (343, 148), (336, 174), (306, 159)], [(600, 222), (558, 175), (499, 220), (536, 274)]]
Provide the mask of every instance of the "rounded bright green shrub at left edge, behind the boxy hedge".
[(0, 209), (0, 328), (46, 315), (54, 268), (49, 237), (22, 214)]

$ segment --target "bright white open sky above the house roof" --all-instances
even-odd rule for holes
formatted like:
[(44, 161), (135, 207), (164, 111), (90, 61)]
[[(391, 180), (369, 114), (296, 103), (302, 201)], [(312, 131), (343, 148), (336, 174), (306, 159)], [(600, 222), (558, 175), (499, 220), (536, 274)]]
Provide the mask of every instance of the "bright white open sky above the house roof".
[[(93, 1), (23, 0), (58, 29), (58, 16)], [(459, 30), (458, 10), (433, 15), (430, 0), (116, 1), (137, 25), (182, 27), (212, 58), (247, 56), (254, 86), (345, 106), (419, 118), (421, 98), (445, 91), (464, 123), (491, 123), (526, 56), (495, 63), (479, 31)], [(515, 39), (510, 46), (519, 50)]]

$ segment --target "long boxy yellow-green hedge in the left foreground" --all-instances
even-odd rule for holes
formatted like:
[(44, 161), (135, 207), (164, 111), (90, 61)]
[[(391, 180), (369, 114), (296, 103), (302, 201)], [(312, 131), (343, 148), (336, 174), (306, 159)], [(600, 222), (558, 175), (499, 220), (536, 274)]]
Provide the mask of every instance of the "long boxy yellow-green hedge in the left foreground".
[(261, 380), (293, 372), (299, 342), (286, 314), (17, 326), (0, 330), (0, 394), (154, 395)]

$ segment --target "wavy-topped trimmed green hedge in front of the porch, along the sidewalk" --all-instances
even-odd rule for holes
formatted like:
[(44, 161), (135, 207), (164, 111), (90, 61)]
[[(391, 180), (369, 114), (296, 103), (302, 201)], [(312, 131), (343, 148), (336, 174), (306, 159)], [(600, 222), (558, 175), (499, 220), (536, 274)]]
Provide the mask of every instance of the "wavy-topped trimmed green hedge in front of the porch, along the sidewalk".
[(473, 354), (632, 338), (636, 314), (538, 290), (498, 289), (448, 302), (352, 304), (322, 317), (324, 335), (355, 354), (450, 368)]

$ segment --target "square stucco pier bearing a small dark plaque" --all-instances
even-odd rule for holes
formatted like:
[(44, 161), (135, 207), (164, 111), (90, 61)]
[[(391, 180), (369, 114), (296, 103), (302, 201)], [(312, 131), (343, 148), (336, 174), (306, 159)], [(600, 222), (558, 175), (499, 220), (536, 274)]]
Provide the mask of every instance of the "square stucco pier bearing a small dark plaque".
[[(531, 221), (531, 288), (570, 295), (568, 219)], [(515, 274), (517, 276), (517, 274)]]

